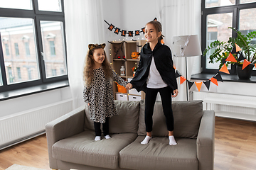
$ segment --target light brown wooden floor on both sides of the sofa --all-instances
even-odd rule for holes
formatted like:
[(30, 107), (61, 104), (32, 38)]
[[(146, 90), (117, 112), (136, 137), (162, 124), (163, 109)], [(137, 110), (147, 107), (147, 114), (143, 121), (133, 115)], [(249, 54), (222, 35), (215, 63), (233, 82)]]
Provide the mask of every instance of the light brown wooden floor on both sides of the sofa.
[[(46, 135), (0, 151), (0, 170), (12, 164), (48, 167)], [(214, 169), (256, 169), (256, 123), (228, 118), (215, 119)]]

